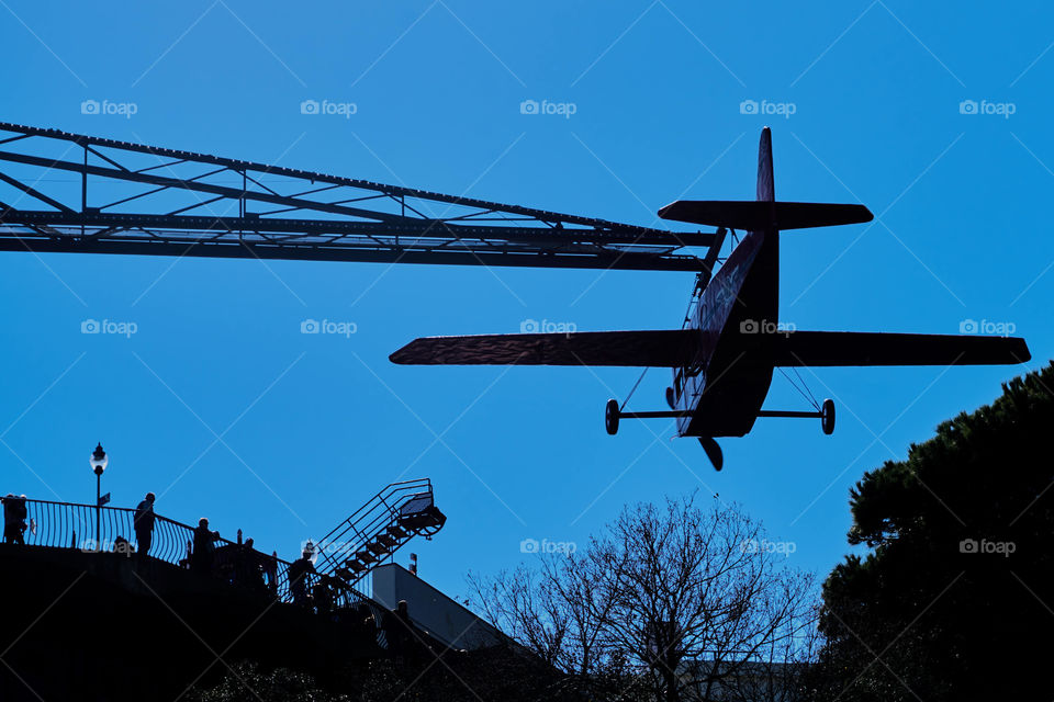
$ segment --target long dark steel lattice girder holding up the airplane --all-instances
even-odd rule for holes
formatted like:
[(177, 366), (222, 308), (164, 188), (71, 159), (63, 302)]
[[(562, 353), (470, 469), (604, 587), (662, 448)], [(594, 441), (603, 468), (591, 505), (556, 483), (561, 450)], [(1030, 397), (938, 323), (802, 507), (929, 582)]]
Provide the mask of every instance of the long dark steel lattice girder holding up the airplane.
[[(19, 191), (14, 204), (0, 200), (9, 251), (706, 275), (722, 239), (9, 123), (0, 161), (0, 181)], [(55, 184), (63, 173), (75, 174), (65, 189)], [(47, 208), (15, 206), (26, 199)], [(437, 205), (444, 212), (431, 214)]]

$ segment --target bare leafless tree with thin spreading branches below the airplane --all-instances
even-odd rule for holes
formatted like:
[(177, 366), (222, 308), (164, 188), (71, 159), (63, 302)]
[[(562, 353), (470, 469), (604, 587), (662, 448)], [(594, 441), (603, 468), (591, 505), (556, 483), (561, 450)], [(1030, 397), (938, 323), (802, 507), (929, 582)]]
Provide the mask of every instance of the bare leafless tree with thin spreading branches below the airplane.
[(627, 506), (585, 548), (470, 578), (474, 604), (588, 698), (787, 700), (812, 579), (735, 505)]

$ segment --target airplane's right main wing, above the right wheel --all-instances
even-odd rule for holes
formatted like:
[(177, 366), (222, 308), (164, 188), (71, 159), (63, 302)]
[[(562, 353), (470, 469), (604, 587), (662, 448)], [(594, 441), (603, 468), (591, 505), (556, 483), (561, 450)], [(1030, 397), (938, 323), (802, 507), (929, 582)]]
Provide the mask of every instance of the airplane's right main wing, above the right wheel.
[(1024, 339), (965, 335), (792, 331), (773, 337), (776, 366), (987, 365), (1032, 358)]

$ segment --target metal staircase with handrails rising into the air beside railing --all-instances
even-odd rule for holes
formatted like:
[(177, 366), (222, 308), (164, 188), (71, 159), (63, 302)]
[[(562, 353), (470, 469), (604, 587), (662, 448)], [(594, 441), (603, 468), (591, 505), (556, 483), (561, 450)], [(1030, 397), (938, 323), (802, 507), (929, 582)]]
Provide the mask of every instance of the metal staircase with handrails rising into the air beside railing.
[(414, 536), (431, 539), (446, 521), (430, 479), (392, 483), (322, 537), (315, 570), (354, 586)]

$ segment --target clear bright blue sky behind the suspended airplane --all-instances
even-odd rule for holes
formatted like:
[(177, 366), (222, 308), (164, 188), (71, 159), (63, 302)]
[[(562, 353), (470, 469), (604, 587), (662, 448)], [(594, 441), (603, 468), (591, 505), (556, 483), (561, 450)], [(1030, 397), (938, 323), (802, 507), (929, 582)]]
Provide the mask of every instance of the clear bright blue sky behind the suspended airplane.
[[(0, 5), (4, 121), (631, 224), (681, 196), (752, 197), (770, 124), (778, 197), (876, 214), (785, 235), (783, 320), (1005, 322), (1029, 367), (1051, 358), (1046, 3)], [(82, 114), (85, 100), (135, 114)], [(356, 110), (304, 115), (304, 100)], [(525, 115), (525, 100), (574, 114)], [(750, 100), (774, 113), (743, 114)], [(626, 502), (695, 489), (741, 503), (823, 576), (849, 551), (861, 474), (1025, 370), (803, 371), (839, 405), (834, 435), (759, 420), (715, 474), (669, 422), (604, 433), (604, 401), (638, 371), (388, 361), (417, 336), (526, 319), (674, 328), (686, 273), (24, 252), (0, 268), (0, 490), (90, 501), (102, 441), (115, 505), (154, 490), (166, 516), (290, 557), (390, 480), (429, 476), (449, 521), (407, 552), (451, 593), (470, 568), (527, 557), (525, 539), (584, 544)], [(82, 335), (89, 318), (137, 332)], [(306, 318), (358, 331), (301, 335)], [(668, 382), (650, 371), (631, 407), (661, 408)], [(805, 408), (778, 376), (766, 407)]]

